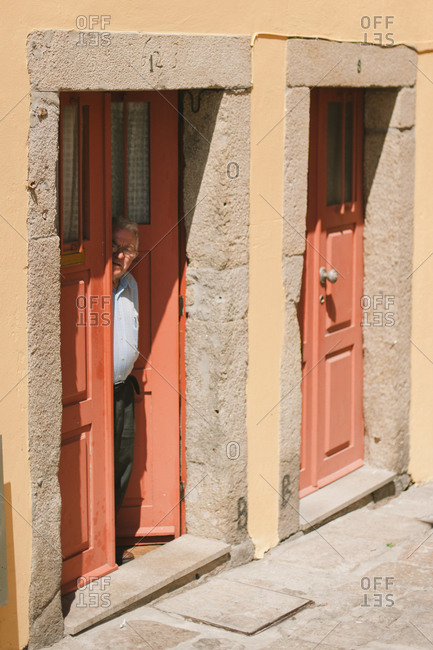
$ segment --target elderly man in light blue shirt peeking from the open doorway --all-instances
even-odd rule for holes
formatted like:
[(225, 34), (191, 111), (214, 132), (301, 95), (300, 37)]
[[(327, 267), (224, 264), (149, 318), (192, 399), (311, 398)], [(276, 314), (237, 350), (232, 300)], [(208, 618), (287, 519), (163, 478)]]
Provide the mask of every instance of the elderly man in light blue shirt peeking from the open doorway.
[[(113, 223), (113, 383), (114, 383), (114, 492), (116, 518), (122, 505), (134, 456), (134, 389), (131, 375), (138, 357), (138, 290), (128, 270), (137, 256), (138, 228), (135, 223)], [(118, 564), (132, 560), (129, 552), (116, 550)]]

